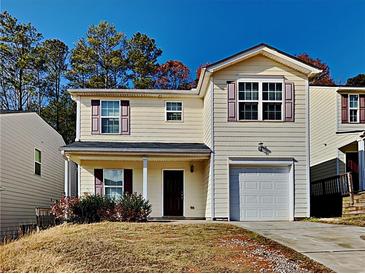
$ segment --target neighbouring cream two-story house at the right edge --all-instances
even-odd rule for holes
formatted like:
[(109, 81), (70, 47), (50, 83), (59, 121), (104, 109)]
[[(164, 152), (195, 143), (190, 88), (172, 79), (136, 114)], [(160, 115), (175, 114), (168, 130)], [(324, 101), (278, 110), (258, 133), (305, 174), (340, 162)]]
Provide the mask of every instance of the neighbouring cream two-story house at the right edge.
[(365, 87), (310, 86), (311, 178), (351, 172), (365, 190)]

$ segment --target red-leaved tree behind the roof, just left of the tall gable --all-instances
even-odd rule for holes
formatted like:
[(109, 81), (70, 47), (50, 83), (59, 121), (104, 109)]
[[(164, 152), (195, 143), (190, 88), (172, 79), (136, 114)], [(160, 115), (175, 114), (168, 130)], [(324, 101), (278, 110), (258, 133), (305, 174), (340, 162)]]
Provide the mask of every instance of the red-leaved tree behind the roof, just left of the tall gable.
[(190, 70), (182, 62), (169, 60), (156, 70), (155, 88), (190, 89)]

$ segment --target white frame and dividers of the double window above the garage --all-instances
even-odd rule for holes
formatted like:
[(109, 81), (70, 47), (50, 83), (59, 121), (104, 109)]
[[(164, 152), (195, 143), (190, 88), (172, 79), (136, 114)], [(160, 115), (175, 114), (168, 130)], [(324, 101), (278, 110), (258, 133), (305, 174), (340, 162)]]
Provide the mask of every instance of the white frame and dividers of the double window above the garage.
[[(239, 99), (239, 83), (258, 83), (259, 84), (259, 99), (258, 100), (240, 100)], [(282, 85), (282, 95), (281, 95), (281, 101), (272, 101), (272, 100), (263, 100), (262, 99), (262, 84), (263, 83), (281, 83)], [(285, 83), (284, 83), (284, 78), (240, 78), (237, 80), (236, 83), (236, 87), (237, 87), (237, 105), (236, 105), (236, 117), (238, 121), (243, 121), (243, 122), (282, 122), (284, 121), (284, 100), (285, 100)], [(257, 111), (258, 111), (258, 115), (257, 115), (257, 120), (246, 120), (246, 119), (240, 119), (239, 118), (239, 103), (242, 102), (257, 102), (258, 103), (258, 107), (257, 107)], [(280, 103), (281, 102), (281, 120), (264, 120), (263, 119), (263, 104), (264, 103)]]

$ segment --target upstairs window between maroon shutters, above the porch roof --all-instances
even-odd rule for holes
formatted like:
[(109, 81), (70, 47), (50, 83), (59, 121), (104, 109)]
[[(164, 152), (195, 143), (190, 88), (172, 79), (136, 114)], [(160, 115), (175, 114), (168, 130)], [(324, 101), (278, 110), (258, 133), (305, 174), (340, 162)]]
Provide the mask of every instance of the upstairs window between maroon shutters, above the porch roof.
[(101, 133), (119, 133), (120, 101), (101, 101)]

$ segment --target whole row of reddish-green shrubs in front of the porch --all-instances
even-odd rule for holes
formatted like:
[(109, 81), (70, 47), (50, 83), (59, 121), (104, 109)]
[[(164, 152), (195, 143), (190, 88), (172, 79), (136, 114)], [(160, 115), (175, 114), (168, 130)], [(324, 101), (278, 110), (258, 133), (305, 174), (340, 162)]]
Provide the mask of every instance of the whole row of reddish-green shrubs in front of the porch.
[(65, 197), (52, 204), (58, 222), (95, 223), (100, 221), (144, 222), (151, 204), (142, 195), (125, 194), (120, 199), (100, 195)]

